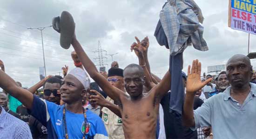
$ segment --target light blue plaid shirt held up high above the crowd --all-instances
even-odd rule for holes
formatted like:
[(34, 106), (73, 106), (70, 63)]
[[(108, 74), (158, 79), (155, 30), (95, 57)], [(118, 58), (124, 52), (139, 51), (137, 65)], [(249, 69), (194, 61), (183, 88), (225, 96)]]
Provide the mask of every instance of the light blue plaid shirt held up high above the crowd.
[(194, 0), (168, 0), (160, 12), (160, 21), (172, 56), (191, 44), (197, 50), (208, 50), (202, 38), (202, 13)]

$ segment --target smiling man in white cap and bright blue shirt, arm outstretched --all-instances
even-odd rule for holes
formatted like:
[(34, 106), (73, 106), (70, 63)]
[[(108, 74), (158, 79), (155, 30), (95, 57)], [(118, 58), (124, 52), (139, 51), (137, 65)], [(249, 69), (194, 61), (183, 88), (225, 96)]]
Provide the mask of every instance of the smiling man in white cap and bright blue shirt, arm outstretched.
[(0, 71), (0, 87), (22, 102), (37, 120), (47, 127), (48, 139), (108, 139), (99, 116), (82, 107), (82, 96), (89, 91), (90, 80), (81, 68), (75, 68), (64, 78), (61, 99), (65, 105), (42, 100)]

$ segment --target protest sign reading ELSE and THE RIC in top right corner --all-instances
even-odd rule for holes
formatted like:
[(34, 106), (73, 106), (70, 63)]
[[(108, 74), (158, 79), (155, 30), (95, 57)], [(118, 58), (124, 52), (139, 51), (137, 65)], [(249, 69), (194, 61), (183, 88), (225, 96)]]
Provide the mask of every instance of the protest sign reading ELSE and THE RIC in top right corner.
[(229, 0), (229, 27), (256, 34), (256, 0)]

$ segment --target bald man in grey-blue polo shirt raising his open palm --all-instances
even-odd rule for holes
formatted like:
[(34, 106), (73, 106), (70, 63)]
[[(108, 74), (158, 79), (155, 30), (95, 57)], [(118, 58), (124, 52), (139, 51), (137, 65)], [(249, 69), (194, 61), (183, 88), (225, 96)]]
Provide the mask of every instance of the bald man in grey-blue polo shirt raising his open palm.
[(201, 63), (198, 60), (193, 63), (191, 71), (189, 67), (183, 124), (194, 130), (212, 126), (214, 139), (255, 139), (256, 85), (249, 83), (253, 72), (250, 59), (235, 55), (229, 59), (226, 67), (231, 86), (209, 98), (194, 112), (193, 92), (210, 82), (210, 79), (200, 82)]

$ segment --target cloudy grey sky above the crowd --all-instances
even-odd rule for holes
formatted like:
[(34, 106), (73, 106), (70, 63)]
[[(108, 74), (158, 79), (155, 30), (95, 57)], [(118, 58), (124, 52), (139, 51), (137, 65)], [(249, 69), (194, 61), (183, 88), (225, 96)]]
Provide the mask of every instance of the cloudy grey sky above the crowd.
[[(166, 0), (1, 0), (0, 2), (0, 59), (6, 72), (23, 86), (39, 82), (39, 67), (43, 66), (41, 36), (38, 30), (28, 27), (49, 26), (53, 17), (69, 11), (76, 23), (76, 34), (90, 58), (98, 41), (108, 54), (119, 53), (114, 60), (121, 68), (137, 63), (129, 51), (134, 37), (149, 37), (148, 51), (152, 72), (162, 77), (168, 70), (168, 50), (157, 44), (154, 32), (159, 12)], [(224, 64), (234, 54), (247, 54), (248, 34), (228, 27), (228, 0), (195, 0), (205, 17), (204, 38), (209, 51), (197, 51), (189, 47), (184, 52), (184, 71), (195, 58), (201, 60), (202, 69)], [(62, 73), (65, 64), (74, 68), (70, 53), (59, 45), (59, 33), (52, 28), (43, 31), (47, 75)], [(251, 35), (250, 52), (255, 36)], [(105, 54), (105, 53), (103, 53)], [(111, 57), (104, 60), (111, 64)], [(97, 64), (98, 61), (94, 60)], [(254, 61), (252, 61), (254, 64)]]

